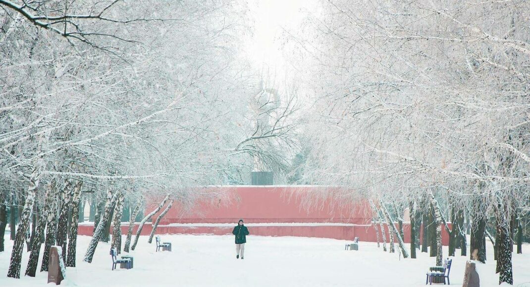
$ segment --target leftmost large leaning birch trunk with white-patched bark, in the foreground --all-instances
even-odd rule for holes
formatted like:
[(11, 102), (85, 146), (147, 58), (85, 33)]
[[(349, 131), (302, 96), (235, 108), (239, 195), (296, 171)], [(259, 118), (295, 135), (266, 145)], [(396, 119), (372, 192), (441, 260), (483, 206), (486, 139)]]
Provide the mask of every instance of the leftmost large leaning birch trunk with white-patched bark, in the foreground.
[[(39, 139), (38, 154), (41, 152), (41, 141), (42, 139)], [(33, 210), (33, 203), (35, 202), (35, 196), (37, 194), (37, 187), (39, 187), (43, 166), (44, 163), (40, 156), (39, 160), (34, 163), (31, 171), (28, 194), (25, 198), (24, 210), (22, 211), (19, 228), (17, 229), (15, 242), (13, 243), (13, 252), (11, 253), (11, 261), (9, 264), (9, 270), (7, 271), (7, 277), (20, 278), (20, 265), (22, 261), (22, 252), (24, 250), (25, 235), (30, 224), (31, 211)]]

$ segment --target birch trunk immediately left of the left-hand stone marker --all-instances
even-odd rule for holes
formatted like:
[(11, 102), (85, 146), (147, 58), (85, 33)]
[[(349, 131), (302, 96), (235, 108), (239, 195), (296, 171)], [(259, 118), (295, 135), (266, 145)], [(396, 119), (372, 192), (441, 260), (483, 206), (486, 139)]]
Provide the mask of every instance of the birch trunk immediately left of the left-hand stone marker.
[(50, 193), (51, 206), (47, 210), (46, 216), (46, 240), (44, 243), (44, 250), (42, 252), (42, 263), (40, 266), (40, 271), (48, 271), (48, 260), (50, 247), (55, 245), (55, 240), (57, 236), (57, 211), (59, 209), (60, 199), (58, 198), (57, 192), (57, 182), (52, 180), (51, 193)]

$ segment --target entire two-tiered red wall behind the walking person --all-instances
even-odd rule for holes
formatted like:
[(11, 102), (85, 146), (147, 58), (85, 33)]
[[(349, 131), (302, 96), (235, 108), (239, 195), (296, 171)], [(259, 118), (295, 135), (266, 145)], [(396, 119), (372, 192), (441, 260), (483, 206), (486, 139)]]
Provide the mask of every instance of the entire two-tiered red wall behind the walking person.
[[(317, 189), (321, 189), (318, 190)], [(251, 235), (261, 236), (303, 236), (376, 242), (376, 232), (372, 225), (372, 211), (366, 201), (342, 203), (339, 200), (324, 200), (307, 206), (307, 193), (327, 193), (334, 198), (337, 189), (316, 186), (223, 186), (208, 187), (205, 200), (197, 202), (192, 211), (185, 211), (175, 202), (156, 229), (157, 234), (232, 234), (232, 227), (216, 226), (169, 226), (171, 223), (234, 223), (242, 218), (250, 224)], [(336, 198), (336, 197), (335, 197)], [(153, 211), (162, 198), (152, 198), (144, 214)], [(160, 211), (162, 212), (162, 211)], [(160, 213), (158, 212), (158, 213)], [(158, 214), (153, 216), (153, 222)], [(348, 226), (252, 226), (251, 223), (349, 223)], [(125, 224), (125, 223), (124, 223)], [(396, 224), (397, 226), (397, 224)], [(122, 225), (123, 234), (127, 226)], [(379, 228), (379, 225), (378, 225)], [(136, 232), (137, 226), (134, 228)], [(146, 223), (142, 235), (151, 233), (151, 224)], [(93, 223), (81, 223), (80, 235), (92, 235)], [(404, 241), (410, 243), (410, 228), (403, 224)], [(387, 242), (388, 227), (385, 225)], [(381, 230), (379, 230), (381, 237)], [(448, 244), (447, 232), (443, 229), (442, 242)]]

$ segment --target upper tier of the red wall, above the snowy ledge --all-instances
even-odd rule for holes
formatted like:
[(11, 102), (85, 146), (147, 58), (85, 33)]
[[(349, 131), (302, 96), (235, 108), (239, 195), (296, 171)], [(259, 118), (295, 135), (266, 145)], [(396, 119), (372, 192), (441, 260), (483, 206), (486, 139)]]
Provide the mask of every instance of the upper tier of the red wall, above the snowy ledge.
[[(175, 202), (161, 225), (167, 223), (246, 223), (266, 222), (342, 222), (367, 224), (371, 221), (369, 205), (363, 201), (352, 204), (325, 200), (317, 207), (306, 209), (308, 192), (333, 193), (329, 187), (317, 186), (222, 186), (209, 187), (209, 199), (201, 200), (193, 211), (183, 211)], [(336, 189), (335, 189), (336, 190)], [(155, 209), (160, 198), (147, 204), (145, 213)], [(156, 216), (153, 218), (156, 219)]]

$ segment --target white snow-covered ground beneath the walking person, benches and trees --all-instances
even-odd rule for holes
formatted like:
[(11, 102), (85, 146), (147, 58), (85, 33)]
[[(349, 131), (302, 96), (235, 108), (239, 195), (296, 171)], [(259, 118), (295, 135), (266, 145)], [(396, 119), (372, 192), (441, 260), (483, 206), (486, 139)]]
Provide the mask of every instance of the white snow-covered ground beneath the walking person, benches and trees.
[[(346, 240), (304, 237), (249, 236), (242, 260), (235, 258), (233, 240), (232, 236), (162, 235), (162, 241), (172, 242), (173, 252), (157, 253), (155, 244), (148, 244), (142, 236), (131, 252), (134, 269), (111, 271), (110, 245), (100, 243), (92, 264), (85, 263), (82, 259), (90, 237), (80, 236), (77, 267), (67, 268), (66, 282), (61, 285), (419, 287), (425, 286), (428, 267), (435, 265), (435, 258), (426, 253), (400, 261), (398, 253), (385, 253), (375, 243), (361, 242), (359, 251), (346, 251)], [(46, 272), (35, 278), (6, 277), (12, 247), (8, 235), (6, 244), (6, 252), (0, 253), (0, 286), (46, 285)], [(514, 254), (514, 286), (530, 287), (530, 246), (523, 248), (525, 254)], [(23, 256), (22, 275), (28, 255)], [(481, 287), (498, 286), (491, 244), (488, 258), (487, 264), (478, 266)], [(466, 259), (454, 258), (451, 285), (462, 286)]]

